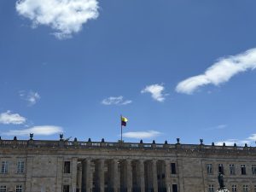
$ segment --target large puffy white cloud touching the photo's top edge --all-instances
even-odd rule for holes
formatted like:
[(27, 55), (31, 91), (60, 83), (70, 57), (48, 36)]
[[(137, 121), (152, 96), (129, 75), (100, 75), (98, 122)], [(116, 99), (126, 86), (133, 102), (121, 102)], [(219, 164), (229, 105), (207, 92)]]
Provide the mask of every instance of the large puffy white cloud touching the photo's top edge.
[(50, 26), (56, 38), (71, 38), (88, 20), (96, 19), (97, 0), (18, 0), (16, 11), (33, 26)]

